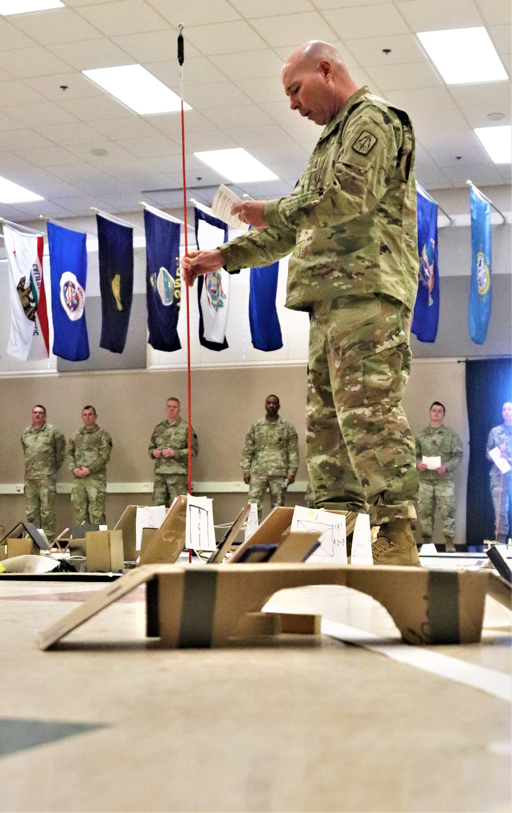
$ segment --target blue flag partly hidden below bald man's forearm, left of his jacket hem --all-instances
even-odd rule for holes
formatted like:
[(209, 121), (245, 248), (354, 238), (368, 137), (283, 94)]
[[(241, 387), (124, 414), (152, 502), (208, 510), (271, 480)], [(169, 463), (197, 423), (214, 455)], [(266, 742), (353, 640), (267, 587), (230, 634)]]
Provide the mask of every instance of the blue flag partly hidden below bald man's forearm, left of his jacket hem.
[(279, 262), (263, 268), (251, 268), (249, 280), (250, 335), (256, 350), (265, 353), (283, 346), (276, 310)]

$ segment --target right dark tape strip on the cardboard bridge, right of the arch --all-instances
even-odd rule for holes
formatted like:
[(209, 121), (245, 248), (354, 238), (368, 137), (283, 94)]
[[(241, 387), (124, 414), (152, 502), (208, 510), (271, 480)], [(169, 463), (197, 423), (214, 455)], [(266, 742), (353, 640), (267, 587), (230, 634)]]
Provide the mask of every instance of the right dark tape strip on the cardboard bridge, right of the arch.
[(458, 644), (458, 573), (428, 572), (428, 620), (432, 644)]

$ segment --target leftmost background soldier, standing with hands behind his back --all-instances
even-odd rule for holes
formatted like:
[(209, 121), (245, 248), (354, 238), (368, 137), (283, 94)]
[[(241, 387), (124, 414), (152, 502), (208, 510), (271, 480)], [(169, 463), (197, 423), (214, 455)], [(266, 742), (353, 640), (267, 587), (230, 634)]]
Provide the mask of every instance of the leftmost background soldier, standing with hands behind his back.
[(64, 462), (66, 438), (46, 423), (46, 409), (36, 404), (32, 426), (21, 436), (25, 455), (25, 504), (28, 522), (42, 528), (52, 541), (55, 536), (57, 472)]

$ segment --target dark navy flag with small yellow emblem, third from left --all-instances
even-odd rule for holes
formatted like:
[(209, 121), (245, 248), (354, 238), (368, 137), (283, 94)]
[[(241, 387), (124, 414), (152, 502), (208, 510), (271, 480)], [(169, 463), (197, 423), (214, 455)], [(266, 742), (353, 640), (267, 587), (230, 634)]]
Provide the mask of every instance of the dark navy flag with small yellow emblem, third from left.
[(133, 298), (133, 229), (96, 215), (102, 293), (100, 347), (122, 353)]

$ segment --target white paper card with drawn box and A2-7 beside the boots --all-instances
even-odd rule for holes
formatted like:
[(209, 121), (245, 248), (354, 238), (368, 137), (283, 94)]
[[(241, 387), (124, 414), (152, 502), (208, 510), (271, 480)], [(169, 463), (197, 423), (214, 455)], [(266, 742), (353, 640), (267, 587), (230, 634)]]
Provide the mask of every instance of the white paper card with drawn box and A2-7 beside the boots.
[(302, 532), (318, 531), (320, 546), (308, 557), (308, 563), (347, 563), (345, 515), (333, 514), (331, 511), (319, 511), (316, 508), (295, 506), (291, 530)]

